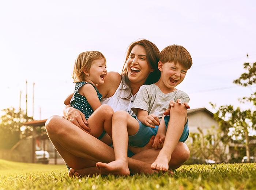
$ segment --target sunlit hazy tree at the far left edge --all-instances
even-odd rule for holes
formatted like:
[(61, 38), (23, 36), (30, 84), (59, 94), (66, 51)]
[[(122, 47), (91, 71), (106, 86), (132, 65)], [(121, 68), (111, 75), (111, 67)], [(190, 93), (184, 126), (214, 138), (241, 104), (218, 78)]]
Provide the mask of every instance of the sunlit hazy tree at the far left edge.
[(22, 123), (33, 120), (23, 110), (18, 112), (15, 108), (2, 110), (0, 123), (0, 148), (10, 149), (20, 140), (20, 126)]

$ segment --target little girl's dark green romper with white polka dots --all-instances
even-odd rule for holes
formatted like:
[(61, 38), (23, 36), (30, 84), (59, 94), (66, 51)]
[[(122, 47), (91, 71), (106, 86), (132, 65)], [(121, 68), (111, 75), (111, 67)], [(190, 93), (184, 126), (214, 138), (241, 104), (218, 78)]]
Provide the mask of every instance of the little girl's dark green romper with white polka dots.
[[(87, 84), (89, 82), (78, 82), (76, 83), (75, 86), (75, 92), (73, 97), (71, 98), (70, 101), (70, 105), (78, 110), (80, 110), (81, 112), (83, 112), (84, 116), (86, 119), (88, 119), (90, 117), (91, 114), (93, 114), (93, 108), (91, 108), (90, 104), (88, 103), (86, 97), (84, 97), (83, 95), (78, 93), (78, 90), (81, 86), (83, 86), (84, 84)], [(93, 85), (92, 83), (89, 83), (91, 85)], [(98, 89), (93, 85), (93, 87), (95, 88), (99, 101), (101, 101), (102, 99), (102, 94), (99, 93)]]

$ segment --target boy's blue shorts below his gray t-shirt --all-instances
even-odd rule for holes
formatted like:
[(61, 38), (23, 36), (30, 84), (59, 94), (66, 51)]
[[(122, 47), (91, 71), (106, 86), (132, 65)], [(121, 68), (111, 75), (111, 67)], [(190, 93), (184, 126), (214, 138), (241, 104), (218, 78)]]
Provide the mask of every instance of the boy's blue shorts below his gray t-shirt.
[[(133, 117), (135, 119), (137, 119), (136, 116), (133, 116)], [(168, 126), (169, 119), (170, 119), (169, 115), (166, 115), (164, 118), (166, 128)], [(143, 147), (143, 146), (147, 145), (151, 136), (153, 136), (153, 135), (155, 136), (157, 134), (158, 126), (155, 126), (155, 128), (151, 128), (151, 127), (144, 125), (139, 120), (138, 120), (138, 122), (139, 122), (139, 130), (138, 130), (138, 132), (136, 132), (136, 134), (129, 136), (128, 144), (130, 146)], [(179, 141), (185, 142), (185, 140), (187, 140), (187, 138), (188, 138), (188, 135), (189, 135), (189, 129), (188, 129), (188, 121), (187, 121), (187, 123), (184, 126), (184, 130), (182, 132), (182, 135), (181, 135), (181, 138)]]

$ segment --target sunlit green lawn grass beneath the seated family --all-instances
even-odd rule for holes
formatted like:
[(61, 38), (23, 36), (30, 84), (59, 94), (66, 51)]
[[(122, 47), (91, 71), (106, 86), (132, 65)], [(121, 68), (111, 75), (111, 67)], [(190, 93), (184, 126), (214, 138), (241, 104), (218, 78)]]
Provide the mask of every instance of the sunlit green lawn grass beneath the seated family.
[(168, 174), (70, 178), (65, 166), (0, 160), (0, 189), (255, 189), (256, 163), (185, 165)]

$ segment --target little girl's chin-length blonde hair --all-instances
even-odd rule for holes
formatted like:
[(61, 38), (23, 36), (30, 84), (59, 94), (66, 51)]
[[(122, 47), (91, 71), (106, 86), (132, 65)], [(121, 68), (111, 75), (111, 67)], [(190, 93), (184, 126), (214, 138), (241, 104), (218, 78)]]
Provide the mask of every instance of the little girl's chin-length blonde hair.
[(83, 71), (86, 70), (87, 72), (89, 72), (91, 68), (91, 63), (96, 59), (104, 59), (106, 63), (105, 56), (99, 51), (86, 51), (78, 55), (72, 74), (74, 83), (85, 80), (85, 74)]

